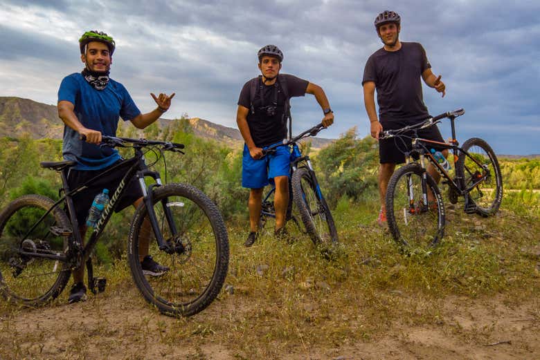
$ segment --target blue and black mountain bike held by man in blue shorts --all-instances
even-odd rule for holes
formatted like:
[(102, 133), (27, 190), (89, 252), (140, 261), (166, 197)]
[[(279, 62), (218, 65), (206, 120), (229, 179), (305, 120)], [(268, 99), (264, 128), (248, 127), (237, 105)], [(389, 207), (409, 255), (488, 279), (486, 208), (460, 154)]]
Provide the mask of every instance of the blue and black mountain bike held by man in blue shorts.
[[(319, 131), (325, 129), (323, 124), (318, 124), (312, 129), (306, 130), (291, 140), (284, 140), (282, 144), (274, 144), (263, 150), (264, 154), (275, 152), (278, 146), (289, 146), (291, 150), (291, 164), (289, 181), (289, 203), (287, 204), (286, 220), (292, 220), (300, 231), (309, 234), (315, 245), (337, 243), (338, 236), (334, 218), (330, 212), (326, 200), (318, 185), (312, 162), (308, 155), (303, 155), (298, 147), (300, 139), (308, 136), (315, 136)], [(260, 225), (264, 227), (268, 218), (276, 218), (276, 211), (273, 207), (273, 195), (276, 187), (271, 187), (270, 191), (262, 200), (260, 213)], [(302, 220), (305, 230), (300, 227), (298, 216), (293, 207), (296, 205), (298, 216)]]

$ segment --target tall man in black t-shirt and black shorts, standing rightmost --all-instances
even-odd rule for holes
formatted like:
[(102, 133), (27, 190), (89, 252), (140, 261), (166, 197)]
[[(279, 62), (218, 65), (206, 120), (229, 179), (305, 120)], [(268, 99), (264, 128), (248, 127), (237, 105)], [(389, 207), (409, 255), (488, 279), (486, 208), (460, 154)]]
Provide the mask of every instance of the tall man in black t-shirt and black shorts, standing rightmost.
[[(363, 72), (363, 101), (371, 122), (371, 136), (379, 139), (383, 130), (401, 129), (404, 126), (417, 124), (429, 118), (429, 113), (422, 97), (422, 83), (435, 88), (444, 97), (445, 86), (431, 72), (431, 64), (426, 57), (422, 45), (399, 41), (401, 18), (393, 11), (381, 12), (375, 19), (377, 35), (384, 46), (375, 51), (366, 63)], [(375, 111), (375, 89), (379, 118)], [(419, 131), (422, 138), (443, 142), (437, 126)], [(404, 144), (411, 149), (411, 142)], [(403, 147), (403, 146), (401, 146)], [(405, 161), (404, 149), (398, 149), (393, 140), (379, 142), (379, 196), (381, 211), (377, 222), (386, 224), (386, 188), (394, 173), (395, 165)], [(448, 151), (442, 151), (446, 157)], [(431, 166), (428, 172), (438, 182), (439, 173)]]

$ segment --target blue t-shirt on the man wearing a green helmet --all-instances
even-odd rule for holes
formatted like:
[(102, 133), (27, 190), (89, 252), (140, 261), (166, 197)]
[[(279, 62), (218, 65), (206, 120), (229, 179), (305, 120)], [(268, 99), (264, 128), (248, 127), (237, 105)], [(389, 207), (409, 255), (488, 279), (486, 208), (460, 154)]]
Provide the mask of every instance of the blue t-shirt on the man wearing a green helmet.
[[(116, 135), (119, 117), (127, 121), (141, 114), (122, 84), (109, 79), (103, 90), (96, 90), (80, 73), (64, 77), (58, 89), (58, 102), (61, 101), (75, 105), (73, 111), (82, 126), (107, 136)], [(69, 126), (64, 126), (62, 154), (65, 160), (78, 162), (74, 168), (78, 170), (104, 169), (120, 160), (116, 149), (84, 142)]]

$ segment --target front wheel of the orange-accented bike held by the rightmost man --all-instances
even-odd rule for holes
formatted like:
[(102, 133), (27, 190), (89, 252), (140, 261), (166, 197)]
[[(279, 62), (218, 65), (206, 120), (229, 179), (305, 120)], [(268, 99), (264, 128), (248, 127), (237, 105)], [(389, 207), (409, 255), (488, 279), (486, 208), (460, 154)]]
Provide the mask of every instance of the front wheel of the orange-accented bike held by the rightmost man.
[(390, 233), (400, 246), (428, 249), (442, 239), (442, 196), (435, 180), (420, 165), (407, 164), (390, 178), (386, 190), (386, 218)]

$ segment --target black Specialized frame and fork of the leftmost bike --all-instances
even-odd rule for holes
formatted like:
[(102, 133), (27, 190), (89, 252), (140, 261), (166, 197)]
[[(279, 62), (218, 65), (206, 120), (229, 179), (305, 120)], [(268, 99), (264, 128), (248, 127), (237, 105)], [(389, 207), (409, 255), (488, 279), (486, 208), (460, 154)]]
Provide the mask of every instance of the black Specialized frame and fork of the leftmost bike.
[[(111, 167), (110, 169), (107, 169), (103, 171), (102, 173), (98, 174), (97, 176), (94, 176), (87, 182), (84, 182), (84, 184), (80, 185), (76, 189), (69, 189), (69, 186), (67, 184), (67, 174), (69, 171), (68, 169), (62, 169), (60, 171), (60, 176), (62, 177), (62, 184), (63, 187), (61, 191), (63, 190), (65, 195), (60, 198), (60, 200), (57, 200), (55, 204), (46, 211), (46, 213), (37, 220), (37, 222), (31, 227), (28, 232), (25, 234), (24, 238), (28, 236), (28, 234), (31, 234), (31, 232), (39, 225), (44, 218), (48, 214), (53, 211), (56, 207), (58, 207), (60, 204), (65, 202), (67, 207), (67, 212), (69, 216), (69, 220), (71, 222), (71, 236), (69, 236), (69, 250), (71, 252), (68, 252), (68, 254), (43, 254), (43, 253), (35, 253), (35, 252), (25, 252), (24, 250), (19, 250), (19, 253), (21, 255), (27, 255), (32, 256), (35, 258), (51, 258), (53, 260), (60, 260), (62, 262), (70, 262), (71, 267), (79, 267), (84, 261), (86, 261), (93, 248), (96, 246), (96, 243), (98, 241), (98, 238), (102, 234), (103, 229), (105, 229), (105, 226), (109, 222), (113, 211), (116, 210), (116, 207), (118, 206), (118, 199), (123, 196), (125, 193), (125, 185), (131, 180), (134, 176), (138, 179), (139, 184), (141, 184), (141, 189), (143, 190), (143, 202), (145, 203), (147, 210), (148, 210), (148, 217), (150, 218), (150, 223), (152, 225), (152, 229), (154, 231), (154, 234), (156, 236), (156, 240), (159, 245), (159, 249), (163, 250), (168, 253), (174, 252), (174, 249), (171, 249), (170, 246), (168, 246), (167, 243), (165, 243), (165, 240), (163, 239), (163, 235), (161, 234), (161, 230), (159, 229), (158, 220), (156, 218), (156, 214), (153, 207), (153, 199), (152, 199), (152, 187), (154, 186), (161, 186), (161, 177), (158, 172), (156, 171), (150, 171), (150, 169), (147, 168), (145, 162), (144, 162), (144, 154), (141, 150), (141, 147), (134, 146), (135, 155), (133, 158), (129, 158), (125, 160), (125, 162), (121, 164), (117, 164), (114, 167)], [(79, 224), (77, 217), (75, 216), (75, 207), (73, 205), (73, 196), (75, 196), (77, 193), (80, 193), (81, 191), (84, 191), (84, 189), (87, 189), (88, 185), (92, 182), (96, 181), (101, 176), (104, 176), (105, 174), (112, 173), (113, 171), (116, 171), (120, 167), (126, 167), (129, 166), (129, 169), (125, 173), (125, 176), (122, 178), (120, 183), (118, 184), (118, 187), (116, 188), (116, 191), (114, 191), (114, 194), (111, 196), (109, 203), (103, 209), (102, 214), (100, 216), (100, 219), (96, 223), (96, 227), (94, 227), (92, 234), (84, 247), (82, 246), (82, 238), (80, 236), (79, 232)], [(150, 176), (154, 178), (155, 184), (150, 184), (148, 187), (145, 184), (145, 176)], [(177, 234), (177, 229), (174, 227), (174, 223), (172, 222), (172, 215), (170, 214), (170, 209), (168, 206), (166, 206), (165, 202), (163, 202), (163, 210), (165, 213), (165, 217), (167, 218), (167, 221), (170, 225), (170, 229), (172, 229), (174, 234)], [(69, 229), (60, 229), (61, 231), (69, 231)], [(68, 232), (64, 232), (63, 234), (69, 234)]]

